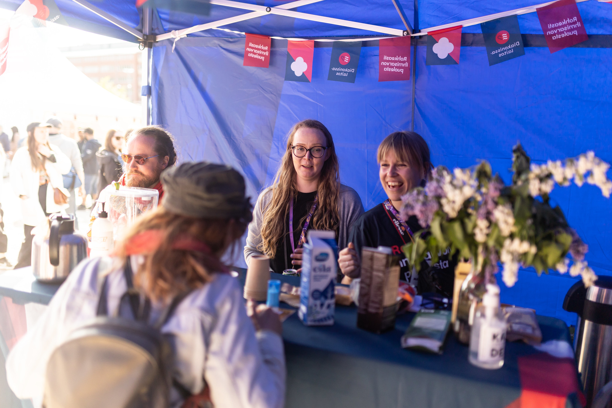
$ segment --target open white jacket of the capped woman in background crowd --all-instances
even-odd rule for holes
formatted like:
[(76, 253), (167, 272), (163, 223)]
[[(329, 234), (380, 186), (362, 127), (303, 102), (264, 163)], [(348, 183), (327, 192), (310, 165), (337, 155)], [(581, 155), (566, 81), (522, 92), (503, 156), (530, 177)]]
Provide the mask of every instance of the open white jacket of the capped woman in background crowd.
[[(70, 159), (59, 150), (59, 147), (50, 145), (55, 156), (55, 163), (45, 160), (45, 169), (49, 176), (49, 185), (47, 187), (47, 212), (61, 212), (68, 207), (68, 204), (55, 204), (53, 199), (53, 188), (59, 188), (66, 196), (70, 196), (68, 190), (64, 188), (64, 179), (62, 174), (70, 171), (72, 165)], [(40, 175), (37, 170), (32, 168), (32, 159), (28, 152), (28, 147), (20, 147), (15, 152), (13, 160), (10, 163), (10, 184), (17, 196), (27, 196), (27, 199), (21, 201), (21, 213), (23, 214), (23, 223), (30, 226), (39, 226), (44, 224), (47, 218), (40, 206), (38, 190), (39, 190)]]

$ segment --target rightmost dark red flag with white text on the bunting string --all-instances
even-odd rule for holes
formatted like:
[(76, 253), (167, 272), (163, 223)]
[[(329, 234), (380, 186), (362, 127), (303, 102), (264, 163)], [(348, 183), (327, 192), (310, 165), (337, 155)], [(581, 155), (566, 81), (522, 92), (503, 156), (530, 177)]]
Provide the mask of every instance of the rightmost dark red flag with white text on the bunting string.
[(536, 11), (551, 53), (589, 39), (576, 0), (559, 0)]

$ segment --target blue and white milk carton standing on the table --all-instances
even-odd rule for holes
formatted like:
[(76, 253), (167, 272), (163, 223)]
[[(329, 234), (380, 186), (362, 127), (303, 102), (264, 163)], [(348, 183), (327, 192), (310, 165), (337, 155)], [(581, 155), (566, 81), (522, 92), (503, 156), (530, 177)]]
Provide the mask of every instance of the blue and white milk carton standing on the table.
[(298, 316), (308, 326), (334, 324), (337, 245), (334, 231), (308, 231)]

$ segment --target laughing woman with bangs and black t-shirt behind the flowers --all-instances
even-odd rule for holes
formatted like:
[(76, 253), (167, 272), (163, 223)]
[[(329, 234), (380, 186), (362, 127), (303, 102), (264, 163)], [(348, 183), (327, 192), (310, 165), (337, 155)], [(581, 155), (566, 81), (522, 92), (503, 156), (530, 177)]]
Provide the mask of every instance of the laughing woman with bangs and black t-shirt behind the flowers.
[[(418, 133), (391, 133), (378, 146), (377, 159), (387, 199), (365, 212), (354, 224), (349, 245), (342, 247), (338, 259), (342, 273), (348, 278), (358, 278), (362, 248), (382, 245), (400, 256), (401, 281), (416, 286), (419, 293), (438, 292), (452, 297), (455, 262), (449, 259), (448, 249), (439, 254), (438, 262), (431, 262), (430, 255), (418, 275), (414, 274), (401, 250), (406, 243), (412, 242), (412, 234), (422, 229), (414, 215), (405, 221), (399, 212), (401, 196), (414, 187), (425, 187), (430, 176), (433, 166), (427, 142)], [(343, 283), (348, 282), (343, 280)]]

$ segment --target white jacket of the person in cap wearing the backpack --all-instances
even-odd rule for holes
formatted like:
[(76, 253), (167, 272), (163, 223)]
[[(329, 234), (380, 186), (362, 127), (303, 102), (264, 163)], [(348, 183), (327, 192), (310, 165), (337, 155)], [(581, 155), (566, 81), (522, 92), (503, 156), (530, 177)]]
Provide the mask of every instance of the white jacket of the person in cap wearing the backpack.
[[(133, 270), (138, 266), (132, 256)], [(18, 398), (32, 398), (40, 407), (44, 376), (51, 352), (72, 328), (95, 317), (99, 258), (81, 262), (28, 333), (7, 358), (10, 388)], [(242, 287), (225, 273), (193, 291), (162, 327), (170, 333), (174, 373), (184, 387), (199, 393), (206, 379), (215, 408), (282, 408), (285, 401), (283, 340), (268, 330), (255, 332), (247, 316)], [(108, 277), (108, 310), (116, 313), (127, 289), (122, 270)], [(161, 305), (152, 306), (152, 316)], [(180, 407), (175, 391), (171, 406)]]

